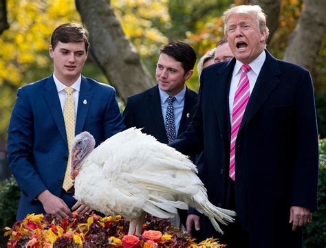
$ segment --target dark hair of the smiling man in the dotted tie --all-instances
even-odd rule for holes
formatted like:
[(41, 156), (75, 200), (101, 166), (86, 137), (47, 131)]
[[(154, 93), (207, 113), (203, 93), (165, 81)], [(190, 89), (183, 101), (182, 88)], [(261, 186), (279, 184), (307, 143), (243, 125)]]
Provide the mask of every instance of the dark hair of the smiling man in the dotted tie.
[(196, 63), (196, 53), (193, 47), (182, 42), (172, 41), (160, 49), (160, 54), (166, 54), (179, 61), (185, 72), (193, 69)]

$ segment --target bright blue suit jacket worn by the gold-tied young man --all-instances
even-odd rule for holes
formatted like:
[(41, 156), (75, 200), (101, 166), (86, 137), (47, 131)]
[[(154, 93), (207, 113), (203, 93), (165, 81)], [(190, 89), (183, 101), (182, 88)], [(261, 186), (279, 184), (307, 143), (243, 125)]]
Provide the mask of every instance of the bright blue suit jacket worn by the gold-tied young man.
[[(123, 129), (115, 89), (82, 76), (76, 135), (88, 131), (98, 145)], [(17, 219), (44, 213), (35, 200), (44, 190), (61, 196), (67, 159), (65, 122), (53, 77), (18, 89), (8, 127), (9, 167), (22, 191)]]

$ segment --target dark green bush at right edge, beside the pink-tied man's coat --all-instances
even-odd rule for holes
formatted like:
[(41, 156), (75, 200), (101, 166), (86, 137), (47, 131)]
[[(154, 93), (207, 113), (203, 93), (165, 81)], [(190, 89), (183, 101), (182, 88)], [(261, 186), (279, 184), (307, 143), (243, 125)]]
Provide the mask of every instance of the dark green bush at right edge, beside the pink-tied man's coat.
[(319, 151), (319, 210), (313, 214), (312, 223), (303, 229), (305, 248), (318, 248), (326, 245), (326, 139), (320, 140)]

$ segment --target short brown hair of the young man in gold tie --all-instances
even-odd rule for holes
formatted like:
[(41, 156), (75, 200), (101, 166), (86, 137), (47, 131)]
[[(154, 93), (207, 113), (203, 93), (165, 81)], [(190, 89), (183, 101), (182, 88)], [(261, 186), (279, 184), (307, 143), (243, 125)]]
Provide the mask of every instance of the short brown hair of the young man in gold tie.
[(87, 52), (89, 47), (89, 34), (84, 27), (77, 23), (65, 23), (56, 27), (52, 33), (50, 39), (52, 49), (56, 47), (59, 41), (62, 43), (84, 42)]

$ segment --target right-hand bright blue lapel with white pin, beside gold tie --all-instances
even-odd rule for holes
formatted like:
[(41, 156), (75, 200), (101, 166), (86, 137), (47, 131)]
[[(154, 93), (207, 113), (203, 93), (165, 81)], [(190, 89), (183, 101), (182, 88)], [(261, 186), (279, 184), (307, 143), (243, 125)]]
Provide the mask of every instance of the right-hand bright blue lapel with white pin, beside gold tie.
[(78, 98), (77, 120), (76, 120), (76, 135), (83, 131), (83, 126), (87, 117), (89, 106), (93, 96), (93, 89), (85, 77), (82, 76), (80, 83), (80, 91)]

